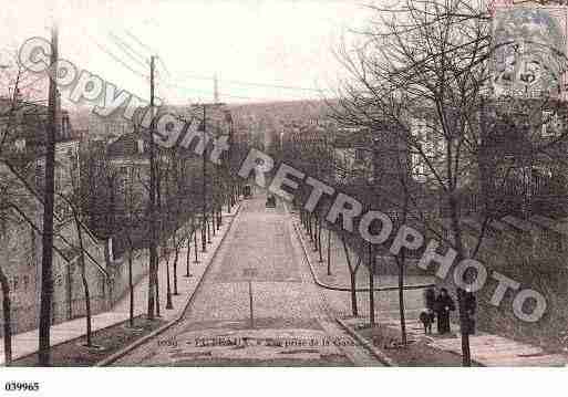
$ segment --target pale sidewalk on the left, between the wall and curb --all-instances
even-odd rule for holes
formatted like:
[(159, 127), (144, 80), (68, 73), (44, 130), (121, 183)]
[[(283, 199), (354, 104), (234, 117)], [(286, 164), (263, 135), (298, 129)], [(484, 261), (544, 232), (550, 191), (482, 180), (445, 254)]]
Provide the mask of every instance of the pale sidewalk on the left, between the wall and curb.
[[(190, 274), (193, 276), (186, 278), (185, 258), (187, 254), (187, 248), (184, 247), (179, 253), (180, 263), (177, 265), (177, 290), (178, 295), (172, 295), (172, 303), (174, 309), (166, 310), (166, 267), (165, 261), (159, 262), (158, 268), (158, 280), (159, 280), (159, 304), (161, 304), (161, 316), (165, 321), (172, 321), (185, 310), (185, 302), (187, 296), (196, 289), (199, 281), (202, 280), (205, 270), (210, 264), (215, 252), (217, 251), (223, 237), (227, 233), (241, 207), (241, 202), (238, 202), (234, 208), (233, 212), (223, 212), (223, 226), (220, 230), (216, 231), (215, 237), (211, 232), (211, 243), (207, 244), (207, 251), (204, 253), (200, 250), (200, 233), (197, 234), (198, 242), (198, 258), (199, 263), (194, 263), (195, 253), (190, 252)], [(143, 254), (134, 260), (133, 265), (147, 261), (147, 253)], [(172, 259), (169, 261), (169, 270), (173, 272)], [(173, 273), (171, 274), (173, 280)], [(146, 313), (147, 310), (147, 284), (148, 276), (145, 275), (134, 288), (134, 316)], [(172, 284), (173, 292), (173, 284)], [(114, 307), (104, 313), (100, 313), (92, 316), (92, 330), (93, 332), (110, 327), (114, 324), (128, 320), (130, 316), (130, 294), (126, 293)], [(51, 345), (58, 345), (85, 334), (85, 317), (74, 318), (64, 323), (60, 323), (51, 326)], [(33, 330), (21, 334), (12, 335), (12, 357), (13, 359), (27, 356), (35, 353), (39, 348), (39, 331)], [(3, 351), (3, 338), (0, 338), (0, 365), (4, 363), (4, 351)]]

